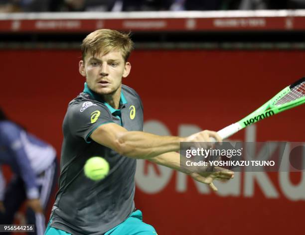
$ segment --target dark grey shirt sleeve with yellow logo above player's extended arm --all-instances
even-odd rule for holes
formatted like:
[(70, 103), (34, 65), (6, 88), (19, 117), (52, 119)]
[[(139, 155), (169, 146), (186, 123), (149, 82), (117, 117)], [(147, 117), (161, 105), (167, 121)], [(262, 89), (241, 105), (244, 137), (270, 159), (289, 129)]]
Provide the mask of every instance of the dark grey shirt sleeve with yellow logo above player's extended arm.
[[(68, 124), (72, 135), (82, 137), (90, 143), (90, 135), (97, 127), (114, 121), (106, 107), (90, 102), (90, 106), (84, 109), (84, 103), (71, 108)], [(86, 104), (88, 106), (88, 102)]]

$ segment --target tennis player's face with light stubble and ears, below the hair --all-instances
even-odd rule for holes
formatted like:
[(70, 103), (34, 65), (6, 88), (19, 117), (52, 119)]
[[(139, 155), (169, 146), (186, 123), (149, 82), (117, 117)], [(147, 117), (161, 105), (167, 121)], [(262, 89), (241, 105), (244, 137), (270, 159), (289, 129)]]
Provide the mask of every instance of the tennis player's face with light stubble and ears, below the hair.
[[(129, 62), (124, 61), (120, 50), (90, 53), (79, 62), (79, 72), (86, 77), (88, 87), (99, 95), (115, 94), (121, 88), (122, 77), (127, 77), (131, 69)], [(119, 90), (120, 91), (120, 90)]]

